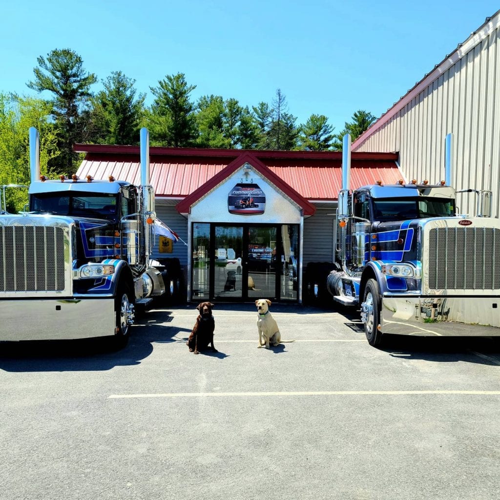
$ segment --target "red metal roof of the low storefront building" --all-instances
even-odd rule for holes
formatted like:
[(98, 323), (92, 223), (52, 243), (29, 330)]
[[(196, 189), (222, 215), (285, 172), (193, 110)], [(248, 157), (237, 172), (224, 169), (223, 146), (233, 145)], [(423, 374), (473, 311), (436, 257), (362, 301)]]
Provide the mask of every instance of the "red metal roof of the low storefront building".
[[(140, 182), (138, 146), (75, 144), (77, 152), (86, 152), (76, 174), (82, 178), (107, 178)], [(223, 179), (228, 165), (236, 169), (248, 161), (268, 175), (288, 195), (296, 193), (304, 200), (336, 200), (341, 187), (341, 153), (337, 151), (260, 151), (204, 148), (149, 148), (150, 182), (156, 196), (185, 198), (203, 186), (211, 188)], [(244, 157), (244, 159), (243, 159)], [(402, 177), (397, 153), (351, 153), (353, 188), (381, 180), (393, 184)], [(241, 160), (241, 161), (240, 161)], [(226, 175), (227, 174), (227, 175)], [(215, 178), (214, 178), (215, 177)], [(220, 181), (220, 180), (219, 180)], [(211, 186), (211, 187), (210, 187)], [(201, 191), (198, 191), (199, 195)], [(293, 197), (293, 196), (292, 196)], [(302, 205), (303, 203), (299, 203)]]

